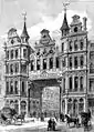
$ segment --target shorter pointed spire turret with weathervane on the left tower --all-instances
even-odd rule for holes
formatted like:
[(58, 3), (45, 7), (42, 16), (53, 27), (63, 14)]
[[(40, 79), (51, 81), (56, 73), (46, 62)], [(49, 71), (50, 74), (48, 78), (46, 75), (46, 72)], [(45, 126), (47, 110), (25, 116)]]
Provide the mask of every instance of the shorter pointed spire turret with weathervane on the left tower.
[(28, 42), (28, 40), (29, 40), (29, 34), (28, 34), (28, 31), (27, 31), (27, 23), (25, 23), (25, 20), (27, 20), (27, 13), (24, 13), (23, 14), (24, 16), (24, 26), (23, 26), (23, 31), (22, 31), (22, 34), (21, 34), (21, 39), (22, 39), (22, 41), (24, 41), (24, 42)]

